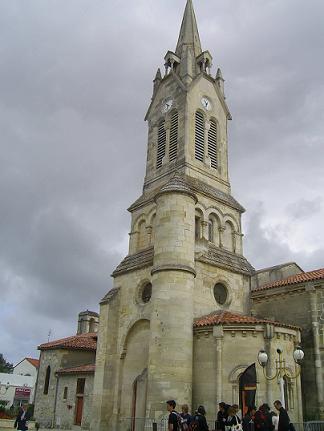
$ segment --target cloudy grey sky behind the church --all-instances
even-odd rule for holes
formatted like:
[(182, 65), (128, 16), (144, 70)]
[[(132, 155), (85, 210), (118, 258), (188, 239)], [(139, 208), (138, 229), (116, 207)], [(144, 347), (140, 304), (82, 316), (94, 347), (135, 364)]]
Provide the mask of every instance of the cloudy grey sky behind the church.
[[(324, 2), (194, 0), (256, 268), (324, 267)], [(185, 0), (0, 2), (0, 352), (76, 332), (128, 251), (152, 80)]]

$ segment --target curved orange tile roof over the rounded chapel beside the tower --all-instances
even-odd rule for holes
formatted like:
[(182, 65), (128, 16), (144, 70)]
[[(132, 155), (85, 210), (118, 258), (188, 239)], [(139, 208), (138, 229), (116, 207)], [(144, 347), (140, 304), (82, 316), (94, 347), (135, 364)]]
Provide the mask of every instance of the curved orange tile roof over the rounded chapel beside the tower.
[(286, 323), (277, 322), (275, 320), (259, 319), (258, 317), (246, 316), (238, 313), (235, 314), (231, 313), (230, 311), (214, 311), (213, 313), (207, 314), (206, 316), (199, 317), (194, 321), (194, 328), (233, 324), (264, 325), (267, 323), (284, 328), (298, 329), (297, 326), (287, 325)]

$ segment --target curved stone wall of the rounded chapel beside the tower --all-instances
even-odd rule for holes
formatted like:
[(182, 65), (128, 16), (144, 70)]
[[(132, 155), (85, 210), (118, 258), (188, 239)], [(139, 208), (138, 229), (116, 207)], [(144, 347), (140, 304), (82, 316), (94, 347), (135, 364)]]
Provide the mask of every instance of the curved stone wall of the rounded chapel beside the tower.
[[(194, 333), (194, 377), (193, 406), (203, 404), (207, 417), (216, 417), (218, 403), (239, 404), (239, 377), (245, 369), (256, 363), (257, 392), (256, 405), (267, 402), (270, 406), (280, 399), (276, 379), (269, 382), (257, 362), (257, 354), (268, 343), (268, 352), (274, 363), (276, 349), (280, 347), (287, 356), (287, 366), (296, 371), (292, 352), (298, 331), (273, 328), (270, 345), (265, 339), (267, 331), (263, 325), (224, 325), (214, 328), (196, 329)], [(268, 369), (268, 373), (274, 373)], [(291, 382), (289, 394), (289, 415), (296, 422), (302, 421), (301, 390), (299, 379)]]

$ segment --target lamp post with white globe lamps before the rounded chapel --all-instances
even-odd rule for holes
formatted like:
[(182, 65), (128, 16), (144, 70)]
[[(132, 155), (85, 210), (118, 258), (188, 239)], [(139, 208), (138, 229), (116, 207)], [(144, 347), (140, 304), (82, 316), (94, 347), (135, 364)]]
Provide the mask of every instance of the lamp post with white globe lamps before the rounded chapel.
[(287, 376), (289, 379), (297, 379), (297, 377), (300, 375), (301, 367), (300, 364), (302, 360), (304, 359), (304, 352), (300, 348), (300, 346), (297, 346), (293, 353), (294, 361), (297, 365), (299, 365), (299, 368), (296, 372), (296, 374), (291, 374), (290, 371), (286, 367), (286, 360), (282, 356), (282, 350), (277, 349), (278, 353), (278, 359), (276, 359), (276, 372), (273, 376), (268, 376), (265, 370), (266, 365), (268, 364), (269, 357), (265, 350), (260, 350), (258, 353), (258, 362), (263, 368), (263, 374), (264, 377), (267, 380), (274, 380), (275, 378), (278, 379), (278, 383), (280, 386), (280, 394), (281, 394), (281, 402), (284, 408), (286, 408), (286, 400), (285, 400), (285, 391), (284, 391), (284, 377)]

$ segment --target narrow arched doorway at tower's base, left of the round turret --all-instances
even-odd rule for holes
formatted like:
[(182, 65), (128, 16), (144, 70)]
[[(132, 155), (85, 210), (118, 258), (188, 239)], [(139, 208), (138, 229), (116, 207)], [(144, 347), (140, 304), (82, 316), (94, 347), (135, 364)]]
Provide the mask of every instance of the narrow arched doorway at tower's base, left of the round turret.
[(147, 369), (133, 383), (132, 431), (142, 431), (145, 426), (147, 395)]

